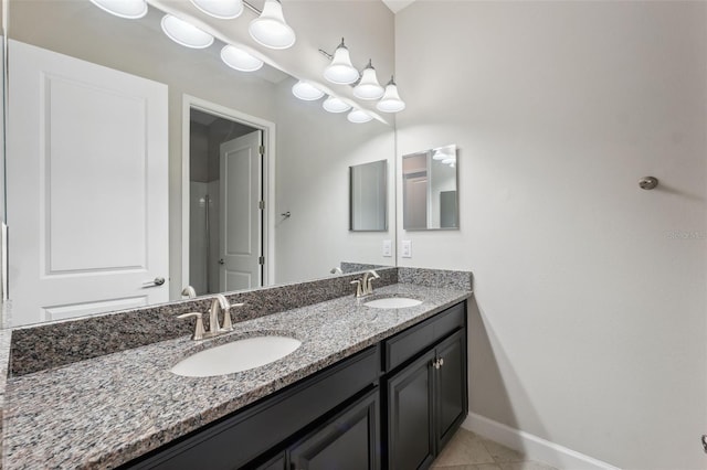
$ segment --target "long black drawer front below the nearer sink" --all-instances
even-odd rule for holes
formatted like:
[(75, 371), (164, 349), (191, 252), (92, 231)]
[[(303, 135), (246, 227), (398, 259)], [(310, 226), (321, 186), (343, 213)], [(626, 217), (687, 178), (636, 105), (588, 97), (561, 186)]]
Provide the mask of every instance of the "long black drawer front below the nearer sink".
[(126, 468), (240, 468), (377, 382), (379, 364), (378, 348), (369, 348)]

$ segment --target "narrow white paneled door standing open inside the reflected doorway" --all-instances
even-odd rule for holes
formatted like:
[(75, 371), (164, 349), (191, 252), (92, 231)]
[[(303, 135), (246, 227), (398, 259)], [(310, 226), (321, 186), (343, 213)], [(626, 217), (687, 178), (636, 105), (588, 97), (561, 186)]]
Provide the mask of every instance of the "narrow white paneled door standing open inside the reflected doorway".
[(261, 286), (262, 142), (256, 130), (221, 145), (222, 291)]

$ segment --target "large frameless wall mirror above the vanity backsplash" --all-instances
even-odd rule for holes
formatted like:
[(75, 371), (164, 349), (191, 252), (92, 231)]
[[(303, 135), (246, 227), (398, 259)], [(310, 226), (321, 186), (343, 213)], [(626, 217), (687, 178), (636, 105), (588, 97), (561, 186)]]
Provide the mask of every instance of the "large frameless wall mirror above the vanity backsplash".
[[(394, 264), (394, 248), (381, 254), (392, 228), (350, 232), (346, 210), (350, 167), (371, 157), (394, 164), (392, 127), (355, 125), (298, 100), (297, 81), (267, 64), (232, 70), (219, 41), (176, 44), (154, 7), (125, 20), (88, 0), (4, 1), (6, 327), (177, 300), (189, 284), (207, 295), (323, 278), (344, 261)], [(32, 75), (33, 61), (55, 72)], [(158, 109), (155, 121), (146, 109)], [(81, 139), (65, 137), (72, 132)], [(95, 151), (92, 136), (102, 133), (109, 145)], [(383, 177), (388, 205), (392, 173)], [(119, 193), (118, 177), (129, 191)], [(160, 197), (161, 209), (134, 210)], [(393, 213), (387, 207), (386, 227)], [(127, 274), (129, 281), (117, 277)], [(101, 296), (101, 280), (139, 288)], [(76, 290), (85, 297), (68, 293)]]

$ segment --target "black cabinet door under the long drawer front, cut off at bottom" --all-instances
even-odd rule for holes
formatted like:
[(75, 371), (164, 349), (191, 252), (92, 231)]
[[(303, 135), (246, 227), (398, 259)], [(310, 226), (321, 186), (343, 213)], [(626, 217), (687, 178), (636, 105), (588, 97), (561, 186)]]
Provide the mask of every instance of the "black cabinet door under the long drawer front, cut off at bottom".
[(289, 449), (295, 470), (378, 470), (378, 387)]

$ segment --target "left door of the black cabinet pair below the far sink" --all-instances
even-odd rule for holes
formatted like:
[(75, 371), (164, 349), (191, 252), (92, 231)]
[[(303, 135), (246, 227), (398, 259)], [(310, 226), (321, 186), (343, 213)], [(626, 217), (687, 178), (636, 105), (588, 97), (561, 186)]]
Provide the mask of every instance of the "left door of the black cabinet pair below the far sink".
[(434, 351), (388, 382), (388, 466), (391, 470), (426, 468), (434, 459)]

